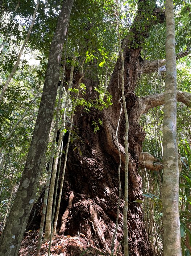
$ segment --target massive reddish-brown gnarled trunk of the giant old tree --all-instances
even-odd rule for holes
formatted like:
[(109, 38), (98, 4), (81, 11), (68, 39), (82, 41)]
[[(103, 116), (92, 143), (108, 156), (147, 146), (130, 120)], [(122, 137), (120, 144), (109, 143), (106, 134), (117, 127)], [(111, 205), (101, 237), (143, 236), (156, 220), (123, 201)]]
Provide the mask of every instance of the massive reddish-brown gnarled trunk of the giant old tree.
[[(129, 36), (124, 39), (122, 44), (125, 56), (124, 85), (126, 106), (129, 117), (128, 235), (129, 254), (132, 256), (153, 255), (153, 249), (150, 246), (144, 227), (142, 206), (140, 203), (133, 202), (142, 198), (142, 179), (138, 174), (138, 162), (141, 143), (145, 137), (144, 131), (138, 124), (140, 109), (138, 99), (134, 94), (134, 88), (143, 65), (143, 60), (140, 56), (141, 44), (148, 35), (149, 26), (155, 22), (152, 18), (149, 18), (153, 12), (159, 22), (164, 20), (163, 13), (159, 9), (155, 9), (154, 1), (149, 1), (148, 3), (142, 0), (139, 1), (138, 15), (130, 29)], [(144, 23), (144, 31), (141, 31), (139, 29), (143, 25), (141, 20), (146, 20), (147, 18), (149, 19)], [(132, 38), (132, 34), (134, 38)], [(138, 42), (138, 46), (135, 46), (136, 42)], [(80, 141), (75, 140), (74, 144), (70, 145), (59, 213), (60, 218), (57, 225), (57, 228), (60, 228), (59, 232), (65, 235), (78, 236), (79, 233), (85, 235), (82, 238), (83, 244), (81, 244), (83, 248), (95, 245), (106, 252), (111, 249), (117, 214), (119, 152), (117, 150), (116, 129), (121, 108), (119, 102), (121, 98), (121, 94), (119, 95), (121, 91), (121, 88), (119, 88), (120, 68), (119, 57), (108, 86), (108, 91), (112, 95), (113, 105), (111, 107), (102, 112), (91, 110), (89, 115), (81, 112), (82, 109), (80, 107), (76, 109), (74, 124), (78, 127)], [(97, 81), (88, 83), (84, 79), (83, 82), (86, 84), (91, 97), (94, 98), (95, 93), (88, 85), (91, 85), (91, 87), (92, 85), (96, 86)], [(103, 120), (103, 126), (94, 134), (92, 121), (96, 121), (98, 118)], [(118, 133), (122, 159), (122, 189), (115, 249), (123, 240), (124, 129), (125, 119), (122, 116)], [(73, 151), (76, 146), (80, 150)], [(80, 152), (82, 152), (82, 155)], [(62, 158), (62, 167), (63, 161), (64, 156)], [(80, 252), (80, 246), (77, 244), (68, 244), (66, 247), (66, 255), (68, 256), (80, 255)], [(123, 255), (123, 246), (119, 247), (119, 255)]]

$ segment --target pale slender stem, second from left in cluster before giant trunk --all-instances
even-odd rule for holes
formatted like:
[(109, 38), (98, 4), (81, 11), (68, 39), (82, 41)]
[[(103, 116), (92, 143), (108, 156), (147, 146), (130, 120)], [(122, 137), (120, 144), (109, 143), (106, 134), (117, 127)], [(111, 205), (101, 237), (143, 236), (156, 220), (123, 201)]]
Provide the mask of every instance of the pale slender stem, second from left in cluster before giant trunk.
[[(72, 84), (75, 59), (76, 59), (76, 56), (74, 55), (73, 63), (72, 63), (72, 67), (71, 67), (71, 73), (70, 73), (69, 87), (71, 86), (70, 84)], [(66, 98), (66, 105), (67, 105), (67, 101), (68, 101), (68, 98)], [(65, 107), (65, 110), (66, 110), (66, 107)], [(52, 177), (51, 177), (51, 182), (50, 182), (49, 199), (48, 199), (47, 212), (46, 212), (45, 239), (49, 239), (50, 238), (50, 232), (51, 232), (51, 220), (52, 220), (52, 208), (53, 208), (53, 198), (54, 198), (54, 186), (55, 186), (55, 180), (56, 180), (56, 174), (57, 174), (57, 165), (58, 165), (59, 151), (60, 151), (61, 143), (62, 143), (61, 134), (63, 135), (63, 133), (61, 132), (60, 135), (59, 135), (57, 153), (56, 153), (56, 156), (55, 156), (55, 159), (54, 159)]]

